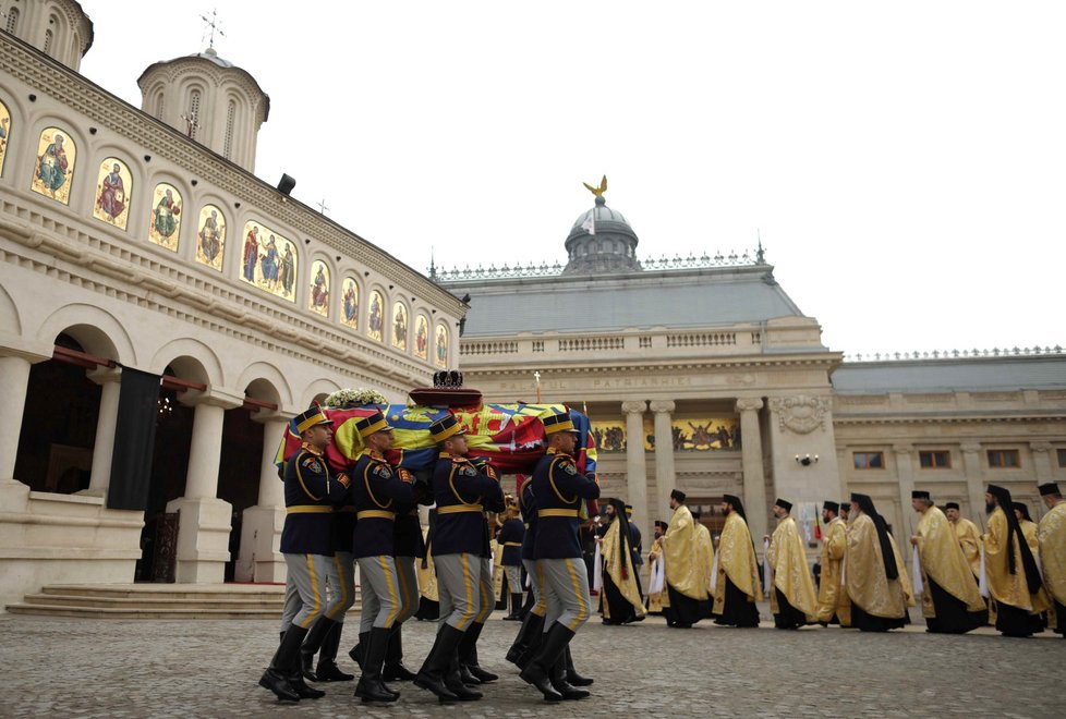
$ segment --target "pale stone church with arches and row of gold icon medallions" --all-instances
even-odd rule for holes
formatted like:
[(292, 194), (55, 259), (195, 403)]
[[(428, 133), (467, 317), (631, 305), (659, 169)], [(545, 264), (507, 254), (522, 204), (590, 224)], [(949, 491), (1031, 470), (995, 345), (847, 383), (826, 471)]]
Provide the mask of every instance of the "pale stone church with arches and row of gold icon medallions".
[(0, 10), (0, 607), (283, 581), (286, 419), (402, 402), (458, 364), (464, 306), (252, 174), (269, 98), (213, 49), (135, 108), (77, 73), (77, 2)]

